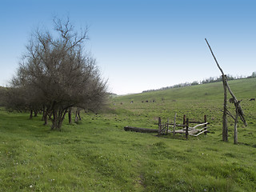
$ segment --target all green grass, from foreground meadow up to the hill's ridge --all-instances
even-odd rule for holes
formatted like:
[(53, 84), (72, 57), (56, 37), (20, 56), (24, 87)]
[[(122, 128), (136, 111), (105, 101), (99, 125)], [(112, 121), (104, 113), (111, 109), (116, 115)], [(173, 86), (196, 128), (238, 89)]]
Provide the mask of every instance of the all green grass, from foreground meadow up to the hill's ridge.
[[(222, 142), (222, 82), (112, 98), (101, 114), (66, 119), (62, 132), (1, 108), (0, 191), (256, 191), (256, 78), (229, 83), (248, 122), (238, 123), (238, 145), (231, 118)], [(186, 140), (123, 130), (157, 129), (158, 117), (172, 122), (175, 113), (181, 123), (206, 114), (210, 133)]]

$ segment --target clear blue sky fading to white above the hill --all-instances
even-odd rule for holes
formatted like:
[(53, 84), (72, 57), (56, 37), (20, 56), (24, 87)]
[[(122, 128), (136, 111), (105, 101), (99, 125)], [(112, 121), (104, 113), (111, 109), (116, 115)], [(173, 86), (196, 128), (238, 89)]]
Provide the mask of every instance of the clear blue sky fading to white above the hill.
[(18, 68), (32, 30), (54, 15), (89, 26), (91, 51), (116, 94), (256, 70), (254, 0), (0, 0), (0, 85)]

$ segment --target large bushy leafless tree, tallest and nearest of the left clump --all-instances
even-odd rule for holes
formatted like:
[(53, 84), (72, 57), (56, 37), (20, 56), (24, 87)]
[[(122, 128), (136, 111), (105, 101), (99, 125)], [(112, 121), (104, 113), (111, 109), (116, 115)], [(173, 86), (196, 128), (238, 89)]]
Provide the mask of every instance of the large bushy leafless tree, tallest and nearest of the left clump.
[(44, 107), (52, 130), (61, 130), (70, 107), (102, 106), (106, 99), (106, 81), (96, 60), (83, 50), (87, 39), (87, 30), (78, 34), (69, 19), (55, 18), (54, 34), (34, 32), (12, 80), (12, 86), (24, 90), (28, 101)]

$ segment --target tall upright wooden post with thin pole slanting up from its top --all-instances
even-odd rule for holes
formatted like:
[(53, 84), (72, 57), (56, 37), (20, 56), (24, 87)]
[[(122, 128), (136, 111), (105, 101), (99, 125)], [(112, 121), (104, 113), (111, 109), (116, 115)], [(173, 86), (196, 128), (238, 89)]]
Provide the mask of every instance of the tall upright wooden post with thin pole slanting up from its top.
[(218, 66), (218, 69), (222, 73), (222, 83), (223, 83), (223, 88), (224, 88), (224, 104), (223, 104), (223, 115), (222, 115), (222, 141), (227, 142), (228, 141), (228, 128), (227, 128), (227, 120), (226, 120), (226, 114), (227, 114), (227, 109), (226, 109), (226, 75), (224, 74), (222, 68), (218, 65), (218, 61), (214, 56), (214, 52), (211, 50), (209, 43), (207, 42), (207, 39), (205, 38), (206, 43), (210, 49), (210, 53), (213, 55), (214, 60)]

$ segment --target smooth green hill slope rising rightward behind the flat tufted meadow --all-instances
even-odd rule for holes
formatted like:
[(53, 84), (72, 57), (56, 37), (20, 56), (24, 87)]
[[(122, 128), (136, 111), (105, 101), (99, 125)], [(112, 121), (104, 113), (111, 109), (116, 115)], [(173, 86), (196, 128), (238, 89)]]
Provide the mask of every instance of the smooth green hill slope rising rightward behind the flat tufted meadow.
[[(256, 78), (244, 78), (233, 80), (229, 82), (231, 90), (236, 94), (237, 98), (247, 99), (255, 98), (256, 96)], [(162, 98), (166, 100), (180, 99), (180, 100), (198, 100), (198, 99), (222, 99), (223, 87), (222, 82), (214, 82), (202, 84), (197, 86), (186, 86), (180, 88), (173, 88), (169, 90), (158, 90), (146, 92), (142, 94), (131, 94), (118, 98), (115, 101), (143, 101), (157, 99), (161, 101)]]

